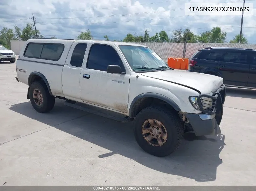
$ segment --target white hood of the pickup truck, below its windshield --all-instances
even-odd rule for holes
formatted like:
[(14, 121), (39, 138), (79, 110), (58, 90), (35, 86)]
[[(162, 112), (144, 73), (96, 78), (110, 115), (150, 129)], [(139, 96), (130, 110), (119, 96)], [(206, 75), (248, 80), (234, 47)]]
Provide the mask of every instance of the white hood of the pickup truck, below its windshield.
[(141, 75), (180, 84), (188, 88), (200, 91), (201, 94), (213, 93), (223, 83), (223, 78), (218, 76), (178, 70), (145, 72), (141, 73)]

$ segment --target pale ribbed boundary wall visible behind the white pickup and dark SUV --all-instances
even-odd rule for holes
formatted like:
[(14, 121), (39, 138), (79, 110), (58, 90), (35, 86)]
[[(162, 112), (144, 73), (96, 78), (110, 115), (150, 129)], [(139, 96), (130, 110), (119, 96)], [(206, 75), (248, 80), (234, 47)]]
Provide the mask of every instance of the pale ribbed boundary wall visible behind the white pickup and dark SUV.
[[(11, 40), (11, 50), (15, 54), (19, 54), (21, 48), (24, 46), (26, 41)], [(165, 62), (169, 57), (182, 58), (184, 43), (136, 43), (148, 46), (154, 50)], [(256, 44), (214, 44), (214, 43), (187, 43), (185, 57), (189, 58), (198, 49), (206, 47), (233, 47), (233, 48), (251, 48), (256, 49)]]

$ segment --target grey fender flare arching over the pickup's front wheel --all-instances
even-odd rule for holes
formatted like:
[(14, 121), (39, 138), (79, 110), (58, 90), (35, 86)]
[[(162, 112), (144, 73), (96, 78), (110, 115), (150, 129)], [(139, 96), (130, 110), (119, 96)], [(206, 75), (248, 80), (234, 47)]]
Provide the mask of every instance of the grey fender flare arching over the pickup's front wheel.
[(134, 109), (136, 101), (141, 99), (141, 98), (146, 98), (146, 97), (152, 97), (152, 98), (157, 98), (157, 99), (163, 100), (166, 103), (170, 104), (176, 111), (181, 111), (180, 107), (173, 100), (171, 100), (170, 98), (168, 98), (164, 95), (157, 94), (157, 93), (143, 93), (143, 94), (138, 95), (137, 97), (135, 97), (132, 100), (130, 108), (129, 108), (129, 115), (130, 116), (132, 115), (132, 111)]

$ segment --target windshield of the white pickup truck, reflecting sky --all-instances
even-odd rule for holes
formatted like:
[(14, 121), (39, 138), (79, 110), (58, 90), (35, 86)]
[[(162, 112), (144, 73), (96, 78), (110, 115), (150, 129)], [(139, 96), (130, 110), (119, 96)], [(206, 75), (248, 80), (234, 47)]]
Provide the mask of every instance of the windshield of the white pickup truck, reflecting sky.
[(134, 71), (169, 70), (168, 65), (150, 48), (119, 45), (126, 60)]

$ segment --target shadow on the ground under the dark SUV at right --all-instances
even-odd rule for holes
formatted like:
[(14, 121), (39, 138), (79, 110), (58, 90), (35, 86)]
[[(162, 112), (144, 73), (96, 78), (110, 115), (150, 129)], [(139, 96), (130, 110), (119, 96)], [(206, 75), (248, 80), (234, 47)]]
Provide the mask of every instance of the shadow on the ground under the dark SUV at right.
[(227, 87), (227, 96), (256, 99), (256, 90)]

